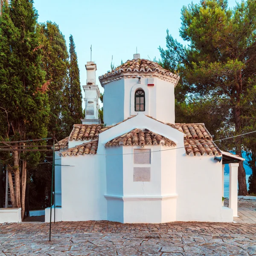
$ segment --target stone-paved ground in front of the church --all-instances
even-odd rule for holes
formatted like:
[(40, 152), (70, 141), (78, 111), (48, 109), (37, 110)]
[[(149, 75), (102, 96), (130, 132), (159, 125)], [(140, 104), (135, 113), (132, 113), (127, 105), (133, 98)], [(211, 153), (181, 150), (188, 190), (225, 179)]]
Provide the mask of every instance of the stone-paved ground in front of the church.
[(109, 221), (0, 225), (2, 255), (240, 256), (256, 255), (256, 225), (172, 222), (120, 224)]

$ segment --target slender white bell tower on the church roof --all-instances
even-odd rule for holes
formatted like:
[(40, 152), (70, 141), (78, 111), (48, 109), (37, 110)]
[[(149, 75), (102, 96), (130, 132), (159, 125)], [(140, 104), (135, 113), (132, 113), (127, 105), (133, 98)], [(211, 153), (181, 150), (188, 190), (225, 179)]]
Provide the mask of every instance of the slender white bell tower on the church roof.
[(93, 61), (87, 61), (86, 85), (84, 89), (85, 117), (81, 119), (83, 125), (100, 124), (99, 120), (99, 87), (96, 84), (97, 66)]

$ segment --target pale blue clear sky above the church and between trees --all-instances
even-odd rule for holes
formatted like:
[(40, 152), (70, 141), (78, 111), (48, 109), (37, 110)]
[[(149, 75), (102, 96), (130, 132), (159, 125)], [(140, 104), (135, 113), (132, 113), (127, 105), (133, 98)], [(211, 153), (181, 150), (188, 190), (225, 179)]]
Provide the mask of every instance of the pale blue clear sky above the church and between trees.
[[(240, 3), (241, 0), (238, 0)], [(97, 64), (96, 77), (110, 70), (111, 56), (115, 66), (133, 58), (136, 47), (141, 58), (160, 58), (159, 45), (166, 46), (166, 29), (179, 37), (180, 10), (191, 0), (34, 0), (38, 21), (51, 20), (69, 44), (73, 35), (78, 55), (81, 85), (86, 84), (84, 64)], [(199, 3), (194, 0), (193, 3)], [(229, 0), (232, 7), (235, 0)], [(103, 92), (103, 88), (99, 88)], [(83, 105), (84, 108), (84, 105)]]

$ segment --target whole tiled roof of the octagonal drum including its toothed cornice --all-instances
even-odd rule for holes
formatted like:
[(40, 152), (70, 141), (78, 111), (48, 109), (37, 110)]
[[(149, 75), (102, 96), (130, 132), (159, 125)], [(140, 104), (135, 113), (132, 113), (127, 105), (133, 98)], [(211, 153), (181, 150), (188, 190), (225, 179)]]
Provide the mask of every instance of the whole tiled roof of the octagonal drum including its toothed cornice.
[(136, 76), (151, 77), (155, 76), (163, 80), (172, 81), (175, 85), (178, 83), (180, 77), (173, 74), (169, 70), (165, 70), (158, 63), (146, 59), (132, 59), (126, 61), (124, 64), (116, 67), (116, 69), (99, 76), (99, 81), (104, 87), (112, 81), (123, 78), (136, 78)]

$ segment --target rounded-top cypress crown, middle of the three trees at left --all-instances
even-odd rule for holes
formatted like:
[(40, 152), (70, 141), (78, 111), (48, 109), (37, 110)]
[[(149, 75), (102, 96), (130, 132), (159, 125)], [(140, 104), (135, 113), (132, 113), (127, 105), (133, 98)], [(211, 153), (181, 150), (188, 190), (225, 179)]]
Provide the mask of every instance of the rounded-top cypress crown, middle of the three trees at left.
[(70, 133), (68, 110), (68, 52), (64, 35), (57, 24), (47, 21), (41, 24), (41, 44), (44, 52), (42, 68), (46, 72), (49, 90), (50, 116), (48, 134), (57, 140)]

